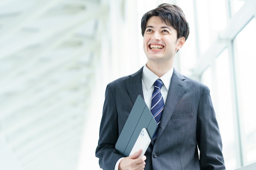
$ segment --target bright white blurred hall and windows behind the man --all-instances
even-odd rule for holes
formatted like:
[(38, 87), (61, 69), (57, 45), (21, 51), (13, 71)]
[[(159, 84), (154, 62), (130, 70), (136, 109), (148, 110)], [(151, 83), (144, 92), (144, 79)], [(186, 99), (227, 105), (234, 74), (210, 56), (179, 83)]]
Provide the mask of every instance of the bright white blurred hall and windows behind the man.
[(146, 63), (142, 15), (180, 6), (175, 69), (209, 86), (227, 170), (256, 162), (256, 0), (0, 0), (0, 169), (99, 170), (106, 85)]

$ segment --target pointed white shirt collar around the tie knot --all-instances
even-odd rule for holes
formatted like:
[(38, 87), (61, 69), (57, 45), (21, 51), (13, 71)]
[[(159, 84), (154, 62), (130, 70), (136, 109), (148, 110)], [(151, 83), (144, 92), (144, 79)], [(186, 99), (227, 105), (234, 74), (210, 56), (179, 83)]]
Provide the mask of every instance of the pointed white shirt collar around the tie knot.
[(164, 86), (166, 87), (166, 89), (169, 90), (172, 75), (173, 75), (173, 67), (167, 73), (165, 73), (162, 77), (158, 77), (157, 75), (155, 75), (155, 73), (150, 71), (146, 65), (143, 67), (143, 70), (142, 70), (142, 79), (146, 85), (147, 91), (153, 86), (155, 81), (159, 78), (164, 83)]

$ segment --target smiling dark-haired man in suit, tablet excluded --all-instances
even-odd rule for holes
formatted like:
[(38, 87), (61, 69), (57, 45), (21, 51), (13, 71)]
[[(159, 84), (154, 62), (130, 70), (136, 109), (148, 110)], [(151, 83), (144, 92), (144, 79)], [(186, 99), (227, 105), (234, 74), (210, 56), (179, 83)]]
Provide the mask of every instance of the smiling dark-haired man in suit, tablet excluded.
[[(176, 5), (160, 4), (142, 17), (141, 33), (148, 59), (146, 65), (106, 88), (96, 149), (100, 167), (103, 170), (225, 170), (209, 88), (173, 68), (175, 54), (189, 35), (183, 11)], [(154, 85), (155, 81), (163, 84), (162, 87)], [(151, 108), (154, 86), (160, 89), (159, 102), (164, 101), (156, 139), (143, 157), (138, 157), (141, 150), (123, 157), (115, 150), (118, 136), (138, 95)]]

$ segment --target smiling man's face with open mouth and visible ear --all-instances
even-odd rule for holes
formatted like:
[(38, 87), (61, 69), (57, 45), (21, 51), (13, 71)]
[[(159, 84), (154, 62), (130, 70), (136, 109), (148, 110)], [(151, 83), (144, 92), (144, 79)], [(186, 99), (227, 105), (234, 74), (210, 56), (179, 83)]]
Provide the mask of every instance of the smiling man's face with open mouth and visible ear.
[(148, 19), (143, 38), (143, 49), (148, 62), (172, 62), (175, 53), (182, 47), (177, 31), (157, 16)]

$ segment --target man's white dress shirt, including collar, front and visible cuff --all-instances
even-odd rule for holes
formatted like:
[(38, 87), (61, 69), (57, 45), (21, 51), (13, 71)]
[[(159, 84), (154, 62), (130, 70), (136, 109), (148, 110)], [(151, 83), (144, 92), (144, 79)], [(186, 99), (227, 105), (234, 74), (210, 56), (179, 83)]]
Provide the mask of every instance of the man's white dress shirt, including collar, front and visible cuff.
[[(161, 88), (161, 93), (164, 98), (164, 104), (165, 104), (172, 75), (173, 75), (173, 67), (171, 68), (171, 70), (165, 73), (162, 77), (158, 77), (157, 75), (155, 75), (155, 73), (150, 71), (146, 65), (143, 67), (142, 78), (141, 78), (142, 91), (143, 91), (145, 103), (148, 106), (149, 110), (151, 110), (151, 98), (152, 98), (152, 93), (154, 91), (155, 81), (160, 78), (164, 83), (164, 85)], [(122, 159), (124, 158), (120, 158), (117, 161), (115, 165), (115, 170), (118, 170), (119, 163)]]

